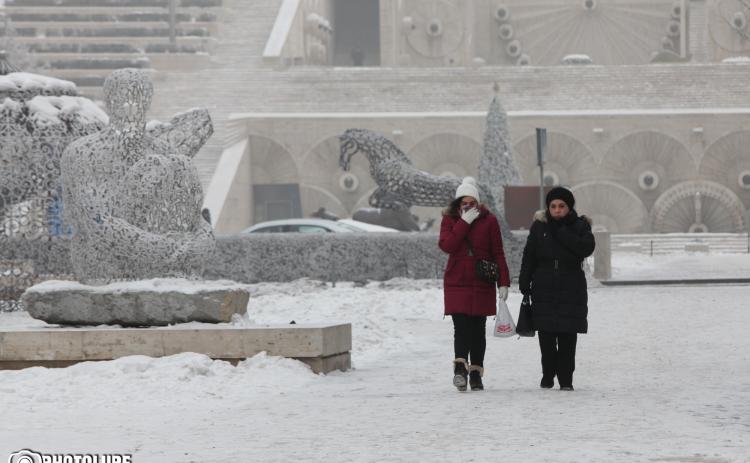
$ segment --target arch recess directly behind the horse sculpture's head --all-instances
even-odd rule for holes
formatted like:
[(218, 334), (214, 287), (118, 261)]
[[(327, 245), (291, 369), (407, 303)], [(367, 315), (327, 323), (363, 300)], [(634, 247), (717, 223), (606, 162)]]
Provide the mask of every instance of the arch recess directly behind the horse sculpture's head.
[(348, 190), (342, 188), (341, 177), (346, 172), (339, 167), (340, 151), (337, 135), (327, 137), (315, 145), (305, 154), (300, 164), (301, 183), (329, 192), (338, 198), (347, 213), (351, 213), (363, 192), (374, 189), (376, 185), (370, 175), (367, 158), (359, 154), (352, 157), (349, 170), (356, 177), (356, 186)]

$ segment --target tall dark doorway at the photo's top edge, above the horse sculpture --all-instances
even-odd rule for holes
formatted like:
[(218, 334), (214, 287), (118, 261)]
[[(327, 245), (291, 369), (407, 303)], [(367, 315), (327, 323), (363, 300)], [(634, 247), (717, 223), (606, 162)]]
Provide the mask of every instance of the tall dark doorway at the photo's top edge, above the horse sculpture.
[(334, 0), (333, 64), (380, 65), (379, 0)]

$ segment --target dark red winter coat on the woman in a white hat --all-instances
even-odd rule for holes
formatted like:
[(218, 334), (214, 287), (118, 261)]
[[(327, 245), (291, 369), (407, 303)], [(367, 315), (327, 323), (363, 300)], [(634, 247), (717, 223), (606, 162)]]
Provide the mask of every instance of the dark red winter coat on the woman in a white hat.
[[(467, 237), (474, 250), (473, 256), (469, 256)], [(460, 217), (445, 215), (440, 225), (438, 246), (450, 254), (444, 276), (445, 314), (495, 315), (495, 287), (510, 286), (497, 218), (484, 206), (480, 207), (479, 217), (471, 225)], [(497, 262), (500, 278), (496, 285), (477, 277), (474, 267), (477, 259)]]

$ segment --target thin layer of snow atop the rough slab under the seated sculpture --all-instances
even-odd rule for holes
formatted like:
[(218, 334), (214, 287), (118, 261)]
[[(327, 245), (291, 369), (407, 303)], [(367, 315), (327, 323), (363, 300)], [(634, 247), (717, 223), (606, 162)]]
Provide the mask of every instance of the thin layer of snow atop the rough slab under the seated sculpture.
[(188, 280), (186, 278), (153, 278), (150, 280), (117, 281), (101, 286), (85, 285), (77, 281), (48, 280), (28, 288), (33, 293), (50, 293), (60, 291), (87, 291), (92, 293), (117, 292), (179, 292), (197, 294), (206, 291), (227, 291), (244, 289), (247, 285), (230, 280)]

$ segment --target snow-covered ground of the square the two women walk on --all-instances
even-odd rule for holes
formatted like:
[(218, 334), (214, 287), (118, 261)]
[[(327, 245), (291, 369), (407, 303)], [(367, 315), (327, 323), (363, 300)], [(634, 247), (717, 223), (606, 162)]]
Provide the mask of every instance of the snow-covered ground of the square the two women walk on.
[[(188, 353), (1, 371), (0, 459), (31, 448), (134, 462), (750, 461), (748, 286), (592, 288), (572, 393), (539, 389), (537, 341), (516, 338), (489, 338), (486, 390), (458, 393), (436, 281), (252, 293), (254, 322), (352, 322), (355, 369)], [(519, 303), (512, 293), (514, 315)]]

